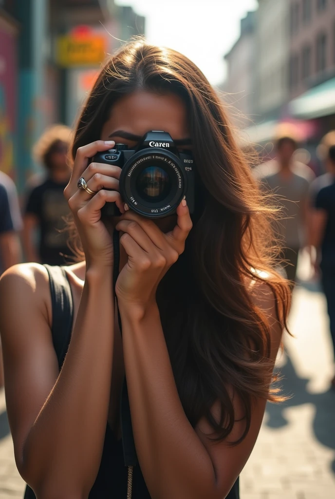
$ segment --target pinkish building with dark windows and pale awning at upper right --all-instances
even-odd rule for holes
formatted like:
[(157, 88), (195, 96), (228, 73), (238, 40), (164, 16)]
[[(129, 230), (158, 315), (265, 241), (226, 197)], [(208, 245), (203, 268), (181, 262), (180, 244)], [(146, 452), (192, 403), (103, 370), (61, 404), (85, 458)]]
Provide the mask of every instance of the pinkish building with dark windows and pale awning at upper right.
[(292, 116), (335, 128), (335, 1), (290, 1), (289, 104)]

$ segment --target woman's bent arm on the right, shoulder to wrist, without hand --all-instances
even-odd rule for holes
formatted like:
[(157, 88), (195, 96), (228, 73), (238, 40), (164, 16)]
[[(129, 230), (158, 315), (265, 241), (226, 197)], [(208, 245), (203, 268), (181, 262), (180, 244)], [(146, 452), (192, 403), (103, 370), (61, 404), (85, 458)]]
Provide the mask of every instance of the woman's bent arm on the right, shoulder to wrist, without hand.
[[(263, 291), (263, 292), (261, 292)], [(264, 310), (276, 317), (273, 294), (267, 285), (258, 290)], [(261, 296), (261, 297), (260, 297)], [(153, 499), (222, 499), (239, 476), (256, 442), (264, 415), (264, 400), (253, 406), (251, 427), (235, 447), (213, 444), (206, 420), (195, 430), (188, 422), (175, 386), (156, 304), (120, 307), (127, 385), (134, 438), (141, 469)], [(280, 345), (281, 329), (272, 327), (272, 360)], [(271, 375), (269, 374), (268, 383)], [(234, 400), (236, 419), (243, 415)], [(219, 420), (218, 407), (212, 413)], [(230, 441), (244, 431), (236, 422)], [(213, 436), (213, 435), (211, 435)]]

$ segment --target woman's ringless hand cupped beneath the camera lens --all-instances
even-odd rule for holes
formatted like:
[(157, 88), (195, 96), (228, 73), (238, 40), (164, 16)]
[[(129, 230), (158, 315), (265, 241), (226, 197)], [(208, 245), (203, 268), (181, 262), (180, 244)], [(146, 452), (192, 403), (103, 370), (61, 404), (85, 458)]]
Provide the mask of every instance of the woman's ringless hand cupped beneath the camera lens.
[(128, 262), (116, 282), (116, 295), (121, 306), (138, 305), (146, 309), (155, 302), (157, 286), (183, 252), (192, 228), (185, 201), (180, 203), (176, 213), (177, 225), (167, 234), (153, 220), (141, 217), (132, 210), (122, 215), (116, 225), (116, 229), (124, 233), (120, 243), (128, 254)]

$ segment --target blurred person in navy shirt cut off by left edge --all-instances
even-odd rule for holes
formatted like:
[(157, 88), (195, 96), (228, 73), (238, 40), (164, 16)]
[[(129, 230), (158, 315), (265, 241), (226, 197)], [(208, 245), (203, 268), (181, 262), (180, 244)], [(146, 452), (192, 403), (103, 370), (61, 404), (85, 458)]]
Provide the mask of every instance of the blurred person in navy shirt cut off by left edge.
[[(15, 185), (8, 175), (0, 172), (0, 274), (20, 261), (18, 231), (21, 228)], [(0, 343), (0, 388), (3, 385), (1, 350)]]

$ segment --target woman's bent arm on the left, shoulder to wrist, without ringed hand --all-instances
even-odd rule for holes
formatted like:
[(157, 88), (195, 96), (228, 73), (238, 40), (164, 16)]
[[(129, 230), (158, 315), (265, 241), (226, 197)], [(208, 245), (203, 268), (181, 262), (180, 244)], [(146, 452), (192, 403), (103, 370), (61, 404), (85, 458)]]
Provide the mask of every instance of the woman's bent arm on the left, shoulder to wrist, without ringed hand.
[[(96, 478), (109, 406), (112, 275), (86, 272), (61, 373), (45, 306), (44, 267), (12, 267), (0, 280), (0, 330), (17, 468), (38, 499), (85, 498)], [(51, 307), (49, 307), (51, 308)]]

